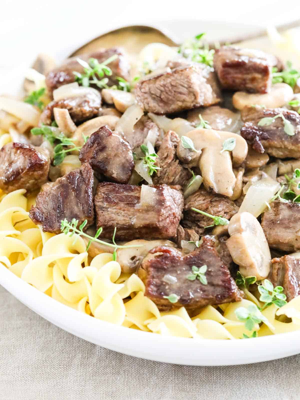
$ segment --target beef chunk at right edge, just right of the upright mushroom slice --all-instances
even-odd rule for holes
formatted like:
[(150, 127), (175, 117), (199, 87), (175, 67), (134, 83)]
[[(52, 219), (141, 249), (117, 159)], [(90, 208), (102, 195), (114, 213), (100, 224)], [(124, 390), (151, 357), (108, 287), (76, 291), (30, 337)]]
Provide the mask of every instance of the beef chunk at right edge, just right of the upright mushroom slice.
[(300, 204), (270, 203), (270, 210), (262, 215), (262, 229), (272, 248), (283, 251), (300, 249)]

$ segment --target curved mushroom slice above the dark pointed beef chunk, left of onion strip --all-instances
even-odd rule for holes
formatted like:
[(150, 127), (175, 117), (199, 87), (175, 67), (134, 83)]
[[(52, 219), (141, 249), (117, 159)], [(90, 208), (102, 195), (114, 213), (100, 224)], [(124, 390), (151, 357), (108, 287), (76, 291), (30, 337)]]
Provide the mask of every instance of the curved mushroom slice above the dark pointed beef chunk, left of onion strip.
[(92, 133), (96, 132), (101, 126), (107, 125), (110, 130), (114, 130), (116, 124), (120, 118), (113, 115), (103, 115), (101, 117), (92, 118), (89, 121), (79, 125), (74, 132), (72, 139), (76, 146), (83, 146), (83, 136), (91, 136)]

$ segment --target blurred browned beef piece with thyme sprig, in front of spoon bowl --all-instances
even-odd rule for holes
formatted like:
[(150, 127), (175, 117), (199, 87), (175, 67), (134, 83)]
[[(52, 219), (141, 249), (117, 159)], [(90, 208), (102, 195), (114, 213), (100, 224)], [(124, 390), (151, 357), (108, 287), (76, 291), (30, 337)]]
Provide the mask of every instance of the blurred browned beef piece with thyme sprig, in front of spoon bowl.
[(88, 62), (90, 58), (96, 58), (98, 62), (101, 63), (112, 57), (114, 54), (117, 54), (118, 58), (108, 64), (109, 68), (112, 70), (112, 76), (107, 77), (108, 86), (118, 84), (116, 76), (120, 76), (128, 80), (130, 64), (123, 50), (120, 48), (99, 49), (96, 52), (80, 54), (76, 57), (68, 58), (62, 63), (62, 65), (50, 71), (46, 76), (46, 86), (48, 92), (52, 93), (54, 89), (57, 89), (62, 85), (75, 82), (75, 75), (73, 74), (73, 71), (80, 73), (84, 72), (83, 67), (77, 61), (77, 58), (80, 58), (86, 62)]

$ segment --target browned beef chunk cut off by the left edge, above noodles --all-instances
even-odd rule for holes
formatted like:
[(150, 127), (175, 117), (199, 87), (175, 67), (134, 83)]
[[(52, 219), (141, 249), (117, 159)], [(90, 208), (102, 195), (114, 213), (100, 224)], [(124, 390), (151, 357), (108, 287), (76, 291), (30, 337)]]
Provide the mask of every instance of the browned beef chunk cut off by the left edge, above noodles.
[(6, 193), (18, 189), (32, 192), (47, 180), (48, 152), (24, 143), (8, 143), (0, 149), (0, 189)]

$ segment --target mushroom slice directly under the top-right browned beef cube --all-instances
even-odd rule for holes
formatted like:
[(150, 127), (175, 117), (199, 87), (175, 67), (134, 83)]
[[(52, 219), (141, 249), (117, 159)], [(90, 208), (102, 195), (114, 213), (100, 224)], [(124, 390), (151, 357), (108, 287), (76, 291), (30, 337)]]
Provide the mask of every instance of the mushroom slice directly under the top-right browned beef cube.
[(235, 108), (242, 110), (246, 106), (258, 104), (266, 108), (282, 107), (292, 100), (294, 96), (293, 89), (286, 83), (276, 83), (272, 86), (270, 92), (266, 94), (251, 94), (247, 92), (236, 92), (232, 97)]

